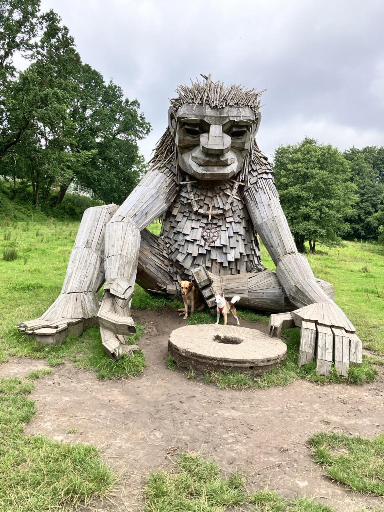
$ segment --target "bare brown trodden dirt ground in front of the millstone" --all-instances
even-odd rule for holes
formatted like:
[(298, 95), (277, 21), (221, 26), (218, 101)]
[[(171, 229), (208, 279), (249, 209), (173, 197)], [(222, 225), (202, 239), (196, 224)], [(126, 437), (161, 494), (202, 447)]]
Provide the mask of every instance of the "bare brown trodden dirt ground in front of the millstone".
[[(27, 434), (99, 446), (121, 476), (111, 501), (89, 510), (139, 510), (146, 479), (160, 467), (171, 467), (177, 447), (203, 449), (225, 471), (249, 475), (250, 491), (268, 487), (343, 512), (383, 505), (324, 477), (306, 445), (319, 431), (369, 438), (383, 433), (383, 377), (362, 387), (296, 381), (265, 391), (224, 391), (166, 368), (169, 333), (184, 325), (177, 313), (135, 311), (135, 319), (146, 328), (139, 343), (147, 359), (141, 377), (99, 381), (66, 365), (37, 381), (32, 394), (39, 413)], [(264, 324), (242, 325), (267, 330)], [(25, 376), (43, 367), (42, 361), (13, 358), (0, 376)], [(67, 434), (71, 429), (77, 433)]]

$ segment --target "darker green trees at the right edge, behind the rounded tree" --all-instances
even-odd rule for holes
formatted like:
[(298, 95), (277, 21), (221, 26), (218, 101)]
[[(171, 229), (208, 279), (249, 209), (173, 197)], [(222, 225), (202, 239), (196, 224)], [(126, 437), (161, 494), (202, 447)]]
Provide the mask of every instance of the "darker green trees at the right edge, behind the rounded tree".
[(352, 147), (344, 153), (350, 162), (351, 181), (357, 186), (358, 201), (348, 221), (353, 238), (376, 238), (377, 212), (384, 194), (384, 147)]

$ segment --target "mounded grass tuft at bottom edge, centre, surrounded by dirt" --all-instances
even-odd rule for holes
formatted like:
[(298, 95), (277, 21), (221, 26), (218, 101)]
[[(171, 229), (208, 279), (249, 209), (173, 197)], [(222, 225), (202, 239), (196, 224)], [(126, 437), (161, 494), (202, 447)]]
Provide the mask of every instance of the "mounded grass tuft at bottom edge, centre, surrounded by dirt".
[(224, 480), (200, 454), (179, 454), (173, 472), (152, 473), (145, 487), (146, 512), (219, 512), (246, 502), (245, 479), (232, 473)]

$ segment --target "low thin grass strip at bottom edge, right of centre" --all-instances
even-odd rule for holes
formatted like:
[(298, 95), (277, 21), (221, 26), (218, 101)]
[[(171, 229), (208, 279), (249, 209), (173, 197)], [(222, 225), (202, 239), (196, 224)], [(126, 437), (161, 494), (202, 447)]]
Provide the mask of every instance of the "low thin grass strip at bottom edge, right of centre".
[(270, 493), (268, 490), (261, 490), (252, 494), (249, 501), (254, 505), (252, 512), (334, 512), (333, 508), (307, 498), (296, 498), (293, 501), (288, 501), (280, 498), (278, 494)]

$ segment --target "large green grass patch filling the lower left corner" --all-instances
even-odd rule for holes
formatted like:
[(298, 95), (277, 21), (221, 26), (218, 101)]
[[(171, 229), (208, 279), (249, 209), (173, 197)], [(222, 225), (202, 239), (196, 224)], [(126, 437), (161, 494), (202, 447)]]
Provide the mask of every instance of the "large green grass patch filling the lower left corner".
[(46, 512), (64, 505), (73, 510), (110, 493), (116, 483), (95, 447), (24, 434), (37, 412), (28, 398), (32, 380), (44, 373), (0, 379), (0, 510)]

